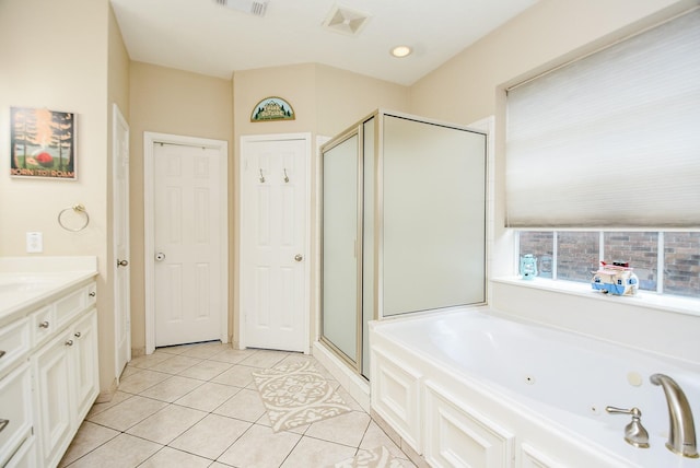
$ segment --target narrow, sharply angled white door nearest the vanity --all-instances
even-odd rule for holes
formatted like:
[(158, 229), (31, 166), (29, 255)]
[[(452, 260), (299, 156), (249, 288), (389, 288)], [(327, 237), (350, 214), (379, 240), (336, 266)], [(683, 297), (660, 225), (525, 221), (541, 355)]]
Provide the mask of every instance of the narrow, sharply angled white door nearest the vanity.
[[(131, 308), (129, 290), (129, 125), (114, 104), (113, 110), (113, 212), (114, 212), (114, 315), (115, 372), (117, 383), (131, 360)], [(126, 265), (124, 262), (127, 262)]]

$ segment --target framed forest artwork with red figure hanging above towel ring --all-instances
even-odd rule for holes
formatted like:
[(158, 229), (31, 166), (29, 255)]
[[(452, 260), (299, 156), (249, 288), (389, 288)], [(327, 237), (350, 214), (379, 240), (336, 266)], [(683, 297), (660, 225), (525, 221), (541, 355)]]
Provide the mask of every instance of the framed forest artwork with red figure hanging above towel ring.
[(10, 108), (10, 175), (75, 180), (75, 114)]

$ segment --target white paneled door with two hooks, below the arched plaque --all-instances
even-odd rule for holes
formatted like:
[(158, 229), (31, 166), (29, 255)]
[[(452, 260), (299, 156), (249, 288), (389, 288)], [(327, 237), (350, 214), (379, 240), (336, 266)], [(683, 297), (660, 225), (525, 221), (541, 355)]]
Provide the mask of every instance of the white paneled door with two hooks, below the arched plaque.
[(311, 136), (241, 148), (241, 343), (308, 352)]

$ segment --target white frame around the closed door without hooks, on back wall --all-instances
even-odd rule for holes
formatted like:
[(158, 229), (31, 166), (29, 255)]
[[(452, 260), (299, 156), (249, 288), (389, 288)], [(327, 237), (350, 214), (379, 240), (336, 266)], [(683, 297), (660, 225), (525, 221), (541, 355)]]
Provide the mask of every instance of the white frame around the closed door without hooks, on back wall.
[(229, 142), (208, 138), (185, 137), (180, 134), (143, 132), (143, 269), (145, 296), (145, 353), (155, 350), (155, 213), (154, 213), (154, 155), (155, 143), (179, 144), (219, 150), (221, 157), (220, 190), (221, 229), (219, 232), (221, 257), (221, 304), (226, 307), (221, 314), (221, 342), (229, 342)]

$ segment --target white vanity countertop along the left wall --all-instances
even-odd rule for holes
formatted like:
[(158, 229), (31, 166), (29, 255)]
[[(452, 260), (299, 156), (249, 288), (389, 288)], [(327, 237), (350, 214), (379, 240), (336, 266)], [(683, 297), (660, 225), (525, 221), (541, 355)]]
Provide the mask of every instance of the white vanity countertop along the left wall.
[(97, 274), (97, 257), (0, 257), (0, 326)]

